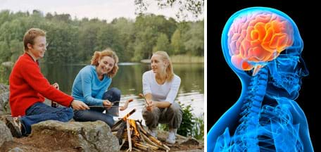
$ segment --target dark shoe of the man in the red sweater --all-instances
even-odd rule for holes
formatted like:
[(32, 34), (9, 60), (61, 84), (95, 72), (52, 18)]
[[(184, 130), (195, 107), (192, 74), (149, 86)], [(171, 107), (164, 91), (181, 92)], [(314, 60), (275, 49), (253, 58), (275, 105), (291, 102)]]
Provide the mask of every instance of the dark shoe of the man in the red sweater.
[(12, 117), (11, 115), (6, 115), (6, 125), (10, 129), (13, 137), (23, 137), (23, 133), (21, 132), (23, 125), (21, 124), (20, 119), (20, 117)]

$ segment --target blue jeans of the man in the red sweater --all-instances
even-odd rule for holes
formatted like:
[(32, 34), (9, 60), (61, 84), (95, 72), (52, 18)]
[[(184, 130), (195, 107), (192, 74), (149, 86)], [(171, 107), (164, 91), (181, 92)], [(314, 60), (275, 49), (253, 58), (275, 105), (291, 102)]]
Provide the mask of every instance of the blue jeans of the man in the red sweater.
[(25, 116), (21, 118), (23, 124), (23, 135), (31, 133), (31, 125), (46, 120), (58, 120), (61, 122), (68, 122), (73, 118), (73, 109), (58, 107), (53, 108), (45, 103), (34, 103), (25, 111)]

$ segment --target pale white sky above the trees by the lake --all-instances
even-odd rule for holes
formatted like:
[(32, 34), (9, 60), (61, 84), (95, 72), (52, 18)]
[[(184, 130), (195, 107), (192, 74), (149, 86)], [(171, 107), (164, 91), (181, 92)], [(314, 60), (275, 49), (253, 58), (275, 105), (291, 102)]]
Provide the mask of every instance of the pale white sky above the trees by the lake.
[[(29, 11), (30, 13), (37, 9), (46, 13), (68, 13), (74, 19), (82, 18), (99, 18), (111, 22), (113, 18), (132, 18), (135, 15), (134, 0), (0, 0), (0, 11), (8, 9), (13, 12)], [(149, 9), (146, 13), (156, 15), (164, 15), (165, 17), (176, 18), (175, 14), (178, 7), (159, 9), (156, 1), (149, 0)], [(193, 18), (192, 15), (187, 20), (201, 20), (204, 15), (199, 18)]]

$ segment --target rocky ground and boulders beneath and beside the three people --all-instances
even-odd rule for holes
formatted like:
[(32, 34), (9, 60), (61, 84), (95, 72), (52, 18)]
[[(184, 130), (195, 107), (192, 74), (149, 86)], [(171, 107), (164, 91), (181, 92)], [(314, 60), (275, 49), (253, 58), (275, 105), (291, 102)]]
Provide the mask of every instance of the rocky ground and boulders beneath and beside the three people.
[[(4, 115), (10, 115), (8, 105), (8, 85), (0, 84), (0, 152), (4, 151), (118, 151), (118, 139), (110, 127), (101, 121), (96, 122), (57, 122), (53, 120), (32, 125), (29, 137), (12, 137), (6, 127)], [(158, 140), (165, 144), (168, 132), (159, 131)], [(204, 151), (203, 141), (177, 135), (176, 144), (166, 144), (170, 151)], [(120, 151), (127, 151), (122, 148)]]

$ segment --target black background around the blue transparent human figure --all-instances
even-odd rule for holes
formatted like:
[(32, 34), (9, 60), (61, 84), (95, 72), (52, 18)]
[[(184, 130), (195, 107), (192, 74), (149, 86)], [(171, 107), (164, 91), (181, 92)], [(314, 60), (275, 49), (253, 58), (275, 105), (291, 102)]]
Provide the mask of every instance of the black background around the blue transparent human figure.
[[(300, 1), (296, 4), (293, 1), (227, 1), (220, 4), (208, 1), (207, 15), (207, 128), (210, 128), (238, 99), (241, 94), (241, 82), (236, 74), (229, 68), (221, 49), (221, 34), (225, 23), (229, 17), (237, 11), (253, 6), (265, 6), (276, 8), (289, 15), (296, 23), (303, 39), (304, 48), (302, 57), (306, 61), (306, 66), (310, 72), (308, 77), (304, 77), (298, 99), (299, 106), (303, 109), (308, 119), (310, 138), (315, 151), (319, 144), (317, 142), (317, 120), (320, 120), (321, 107), (321, 85), (320, 73), (320, 16), (321, 8), (316, 8), (316, 4), (305, 4), (307, 1)], [(291, 6), (290, 6), (291, 5)], [(315, 11), (315, 12), (314, 12)], [(319, 126), (320, 127), (320, 126)]]

